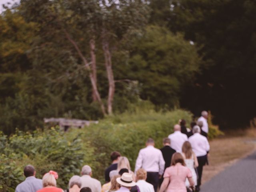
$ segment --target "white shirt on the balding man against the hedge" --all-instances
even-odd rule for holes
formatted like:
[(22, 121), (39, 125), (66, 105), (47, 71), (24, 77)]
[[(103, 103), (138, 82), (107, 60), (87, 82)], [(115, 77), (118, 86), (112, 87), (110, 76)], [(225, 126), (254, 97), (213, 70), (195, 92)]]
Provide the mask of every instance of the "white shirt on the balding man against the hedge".
[(171, 148), (176, 150), (178, 153), (182, 152), (182, 145), (188, 140), (188, 136), (180, 131), (174, 131), (174, 133), (170, 134), (168, 138), (171, 140)]

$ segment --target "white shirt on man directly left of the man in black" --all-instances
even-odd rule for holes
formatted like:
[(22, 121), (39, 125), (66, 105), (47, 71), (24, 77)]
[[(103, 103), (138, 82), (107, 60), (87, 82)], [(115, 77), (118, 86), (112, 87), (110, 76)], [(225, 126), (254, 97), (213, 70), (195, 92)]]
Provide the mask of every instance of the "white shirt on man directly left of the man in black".
[(135, 173), (138, 169), (143, 168), (147, 172), (158, 172), (160, 175), (164, 173), (164, 158), (162, 152), (148, 145), (140, 150), (135, 164)]

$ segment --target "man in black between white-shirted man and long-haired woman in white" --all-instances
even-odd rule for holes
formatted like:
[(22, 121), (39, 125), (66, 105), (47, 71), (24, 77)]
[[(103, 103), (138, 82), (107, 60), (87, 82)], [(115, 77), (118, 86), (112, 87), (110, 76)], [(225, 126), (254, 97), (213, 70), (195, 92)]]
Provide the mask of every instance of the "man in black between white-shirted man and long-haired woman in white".
[[(171, 166), (172, 155), (176, 152), (176, 150), (170, 147), (171, 140), (169, 138), (164, 138), (163, 144), (164, 144), (164, 147), (161, 148), (160, 150), (164, 157), (164, 161), (165, 161), (164, 170), (165, 170), (167, 167)], [(159, 180), (159, 186), (161, 186), (163, 180), (164, 180), (163, 177)]]

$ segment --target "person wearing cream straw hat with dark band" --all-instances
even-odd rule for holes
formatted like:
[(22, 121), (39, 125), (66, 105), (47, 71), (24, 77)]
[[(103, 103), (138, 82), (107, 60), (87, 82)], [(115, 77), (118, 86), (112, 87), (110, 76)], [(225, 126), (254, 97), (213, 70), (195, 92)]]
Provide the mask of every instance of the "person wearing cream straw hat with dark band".
[(121, 187), (116, 192), (130, 192), (133, 186), (136, 186), (136, 182), (132, 179), (132, 174), (123, 173), (121, 177), (116, 178)]

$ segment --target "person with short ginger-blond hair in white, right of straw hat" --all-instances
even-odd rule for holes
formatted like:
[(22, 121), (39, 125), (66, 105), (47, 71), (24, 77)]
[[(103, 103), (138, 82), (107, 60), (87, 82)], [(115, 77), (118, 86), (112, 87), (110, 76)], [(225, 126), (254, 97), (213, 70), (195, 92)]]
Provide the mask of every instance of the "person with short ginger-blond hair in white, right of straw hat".
[(146, 182), (147, 172), (140, 168), (136, 172), (136, 184), (140, 189), (140, 192), (154, 192), (154, 186)]

